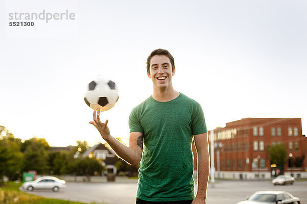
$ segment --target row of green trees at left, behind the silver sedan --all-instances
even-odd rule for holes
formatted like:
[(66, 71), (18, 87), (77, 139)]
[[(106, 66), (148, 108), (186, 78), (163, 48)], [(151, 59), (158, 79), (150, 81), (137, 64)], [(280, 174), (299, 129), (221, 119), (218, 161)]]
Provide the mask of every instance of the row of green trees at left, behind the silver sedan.
[(37, 174), (101, 175), (103, 166), (95, 158), (74, 157), (87, 149), (86, 141), (77, 141), (71, 151), (52, 151), (46, 139), (21, 141), (0, 125), (0, 181), (3, 175), (10, 180), (21, 179), (22, 173), (29, 170)]

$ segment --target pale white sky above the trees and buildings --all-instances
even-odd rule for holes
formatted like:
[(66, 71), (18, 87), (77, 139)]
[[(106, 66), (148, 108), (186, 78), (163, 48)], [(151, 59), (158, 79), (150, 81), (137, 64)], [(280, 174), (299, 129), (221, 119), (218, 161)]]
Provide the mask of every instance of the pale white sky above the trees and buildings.
[[(168, 49), (173, 87), (198, 101), (209, 130), (247, 117), (302, 118), (307, 130), (307, 2), (22, 1), (0, 3), (0, 125), (16, 138), (51, 146), (103, 142), (83, 100), (97, 75), (114, 81), (119, 100), (102, 112), (115, 137), (152, 93), (146, 59)], [(75, 14), (27, 20), (9, 13)]]

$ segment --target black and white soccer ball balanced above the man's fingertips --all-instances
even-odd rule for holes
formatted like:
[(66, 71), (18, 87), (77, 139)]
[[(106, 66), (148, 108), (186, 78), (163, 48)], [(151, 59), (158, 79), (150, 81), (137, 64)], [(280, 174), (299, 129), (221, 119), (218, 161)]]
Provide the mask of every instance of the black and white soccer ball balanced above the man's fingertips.
[(114, 107), (118, 100), (118, 88), (111, 80), (106, 80), (101, 76), (87, 85), (84, 101), (87, 106), (95, 111), (107, 111)]

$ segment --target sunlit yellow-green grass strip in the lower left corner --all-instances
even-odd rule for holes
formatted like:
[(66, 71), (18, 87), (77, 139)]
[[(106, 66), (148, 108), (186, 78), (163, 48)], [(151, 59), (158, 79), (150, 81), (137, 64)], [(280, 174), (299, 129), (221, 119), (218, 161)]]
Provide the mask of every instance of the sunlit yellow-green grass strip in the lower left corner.
[[(69, 200), (59, 200), (52, 198), (43, 198), (36, 195), (24, 193), (19, 190), (21, 184), (14, 182), (5, 183), (0, 186), (0, 203), (2, 204), (85, 204), (84, 202), (75, 202)], [(95, 202), (92, 202), (94, 204)]]

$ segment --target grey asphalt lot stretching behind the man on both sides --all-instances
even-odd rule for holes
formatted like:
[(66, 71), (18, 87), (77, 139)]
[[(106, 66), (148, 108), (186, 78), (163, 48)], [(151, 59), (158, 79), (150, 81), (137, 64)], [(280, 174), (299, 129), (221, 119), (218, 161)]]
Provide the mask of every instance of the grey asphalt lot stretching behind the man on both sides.
[[(31, 194), (85, 203), (134, 204), (137, 180), (120, 180), (114, 183), (67, 183), (59, 192), (33, 191)], [(270, 181), (216, 181), (209, 184), (208, 204), (235, 204), (259, 190), (288, 191), (307, 204), (307, 181), (297, 181), (294, 185), (273, 186)]]

